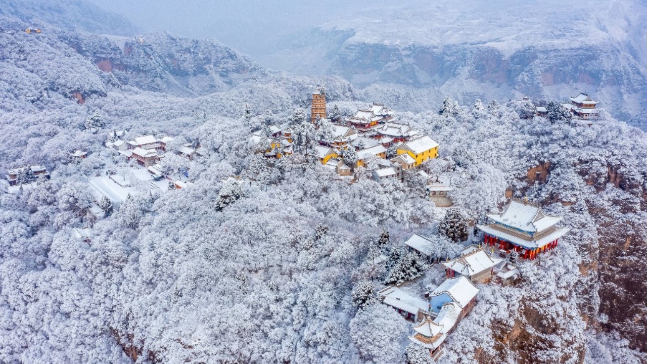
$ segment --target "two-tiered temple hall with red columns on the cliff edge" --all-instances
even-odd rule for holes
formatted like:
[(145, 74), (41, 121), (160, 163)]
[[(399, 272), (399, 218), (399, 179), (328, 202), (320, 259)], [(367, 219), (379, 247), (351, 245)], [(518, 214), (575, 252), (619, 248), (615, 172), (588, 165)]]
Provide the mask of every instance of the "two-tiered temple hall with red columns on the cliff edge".
[(488, 214), (488, 218), (494, 223), (478, 225), (485, 233), (485, 244), (516, 251), (529, 260), (557, 247), (559, 238), (569, 232), (555, 227), (562, 220), (560, 216), (544, 214), (541, 207), (514, 199), (503, 212)]

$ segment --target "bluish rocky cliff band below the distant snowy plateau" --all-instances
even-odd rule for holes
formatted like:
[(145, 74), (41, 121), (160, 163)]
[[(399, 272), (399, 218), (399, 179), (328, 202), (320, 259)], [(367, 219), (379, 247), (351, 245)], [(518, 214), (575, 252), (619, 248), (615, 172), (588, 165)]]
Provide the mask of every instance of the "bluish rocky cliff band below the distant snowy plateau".
[(525, 47), (506, 55), (487, 45), (349, 42), (329, 71), (360, 87), (380, 82), (435, 88), (464, 102), (474, 97), (506, 100), (510, 95), (566, 100), (586, 91), (615, 117), (644, 126), (639, 100), (647, 97), (647, 73), (618, 45)]

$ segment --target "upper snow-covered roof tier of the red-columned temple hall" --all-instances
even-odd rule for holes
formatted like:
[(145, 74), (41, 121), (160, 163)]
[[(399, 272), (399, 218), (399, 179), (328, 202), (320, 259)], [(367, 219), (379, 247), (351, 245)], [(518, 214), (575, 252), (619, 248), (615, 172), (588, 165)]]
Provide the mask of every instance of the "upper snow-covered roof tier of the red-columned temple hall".
[(512, 200), (501, 214), (488, 214), (488, 218), (503, 225), (526, 231), (540, 233), (560, 222), (560, 216), (551, 216), (543, 213), (541, 207)]

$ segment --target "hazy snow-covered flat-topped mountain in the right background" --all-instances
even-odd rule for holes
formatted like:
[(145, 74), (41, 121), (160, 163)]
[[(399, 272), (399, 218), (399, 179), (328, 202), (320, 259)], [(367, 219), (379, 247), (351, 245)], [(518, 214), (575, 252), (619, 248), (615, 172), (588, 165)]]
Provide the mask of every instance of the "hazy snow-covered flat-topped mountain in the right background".
[(431, 89), (434, 104), (446, 95), (562, 100), (584, 91), (645, 127), (645, 19), (634, 0), (408, 1), (334, 19), (259, 60), (359, 87)]

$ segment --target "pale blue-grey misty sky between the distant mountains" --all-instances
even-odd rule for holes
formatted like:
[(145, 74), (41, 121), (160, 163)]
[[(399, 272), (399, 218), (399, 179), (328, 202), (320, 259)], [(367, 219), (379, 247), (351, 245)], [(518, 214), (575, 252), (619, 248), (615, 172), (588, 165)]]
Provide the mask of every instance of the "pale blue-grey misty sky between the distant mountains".
[(258, 54), (258, 48), (271, 47), (277, 37), (316, 27), (333, 17), (380, 3), (369, 0), (90, 1), (126, 16), (146, 31), (168, 31), (199, 39), (217, 38), (251, 55)]

